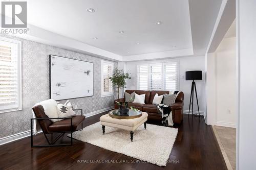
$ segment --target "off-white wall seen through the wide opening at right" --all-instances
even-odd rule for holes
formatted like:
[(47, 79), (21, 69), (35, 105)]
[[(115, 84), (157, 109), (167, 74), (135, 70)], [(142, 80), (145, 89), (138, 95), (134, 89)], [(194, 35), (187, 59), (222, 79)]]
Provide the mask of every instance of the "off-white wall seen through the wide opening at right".
[(224, 38), (207, 54), (207, 124), (236, 127), (236, 37)]

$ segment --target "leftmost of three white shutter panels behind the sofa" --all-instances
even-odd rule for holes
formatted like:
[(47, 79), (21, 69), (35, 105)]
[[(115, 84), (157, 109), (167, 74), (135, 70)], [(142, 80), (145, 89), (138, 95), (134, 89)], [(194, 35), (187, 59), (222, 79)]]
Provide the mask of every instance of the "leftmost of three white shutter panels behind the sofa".
[(147, 90), (148, 87), (148, 65), (137, 66), (137, 82), (139, 90)]

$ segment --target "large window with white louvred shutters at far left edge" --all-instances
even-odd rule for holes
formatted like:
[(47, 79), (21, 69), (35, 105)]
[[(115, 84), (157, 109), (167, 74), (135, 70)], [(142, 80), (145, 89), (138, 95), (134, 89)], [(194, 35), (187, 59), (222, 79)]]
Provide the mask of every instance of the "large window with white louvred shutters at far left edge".
[(0, 113), (22, 109), (21, 46), (0, 37)]

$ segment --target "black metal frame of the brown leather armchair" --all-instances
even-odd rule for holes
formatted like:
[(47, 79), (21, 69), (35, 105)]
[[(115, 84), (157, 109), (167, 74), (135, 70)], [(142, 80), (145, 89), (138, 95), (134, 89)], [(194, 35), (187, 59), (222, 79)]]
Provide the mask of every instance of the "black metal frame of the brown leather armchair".
[[(82, 115), (82, 109), (74, 109), (74, 110), (80, 110), (81, 111), (81, 115)], [(46, 140), (48, 142), (48, 144), (46, 145), (33, 145), (33, 120), (42, 120), (42, 119), (70, 119), (70, 131), (59, 131), (59, 132), (51, 132), (51, 133), (45, 133), (44, 131), (42, 131), (42, 133), (44, 133)], [(40, 125), (40, 124), (39, 124)], [(40, 125), (41, 127), (41, 125)], [(83, 126), (82, 126), (82, 122), (81, 122), (81, 129), (82, 130)], [(41, 127), (42, 129), (42, 127)], [(31, 118), (30, 119), (30, 142), (31, 142), (31, 148), (33, 147), (59, 147), (59, 146), (68, 146), (68, 145), (73, 145), (73, 132), (76, 130), (73, 130), (73, 126), (72, 126), (72, 117), (65, 117), (65, 118), (49, 118), (49, 117), (45, 117), (45, 118)], [(47, 137), (47, 134), (54, 134), (54, 133), (61, 133), (60, 135), (58, 135), (55, 139), (53, 139), (51, 142)], [(63, 136), (65, 133), (71, 133), (71, 141), (70, 144), (54, 144), (61, 136)]]

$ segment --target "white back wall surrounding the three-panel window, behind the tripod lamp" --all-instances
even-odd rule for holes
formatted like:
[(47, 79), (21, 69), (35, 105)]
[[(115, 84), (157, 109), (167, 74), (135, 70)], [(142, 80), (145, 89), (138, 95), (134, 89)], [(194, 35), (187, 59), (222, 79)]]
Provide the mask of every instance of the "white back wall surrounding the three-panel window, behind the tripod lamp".
[[(202, 114), (205, 111), (205, 77), (204, 69), (205, 62), (204, 56), (196, 57), (181, 57), (176, 59), (165, 59), (165, 60), (150, 60), (150, 61), (131, 61), (126, 62), (126, 71), (131, 72), (131, 80), (127, 80), (127, 89), (137, 89), (136, 82), (136, 71), (137, 65), (148, 64), (148, 63), (162, 63), (162, 62), (179, 62), (179, 89), (184, 92), (184, 112), (188, 112), (189, 108), (189, 98), (191, 90), (191, 81), (185, 81), (185, 71), (188, 70), (202, 70), (203, 71), (203, 80), (196, 81), (197, 92), (198, 92), (198, 102), (199, 110)], [(194, 95), (194, 110), (197, 109), (196, 96)], [(200, 113), (200, 114), (201, 114)]]

